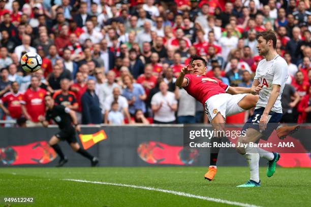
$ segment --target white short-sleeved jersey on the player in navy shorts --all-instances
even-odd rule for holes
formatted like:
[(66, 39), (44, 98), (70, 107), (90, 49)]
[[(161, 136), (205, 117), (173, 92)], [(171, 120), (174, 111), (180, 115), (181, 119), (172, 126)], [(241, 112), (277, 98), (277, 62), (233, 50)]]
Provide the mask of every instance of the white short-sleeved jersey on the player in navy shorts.
[(256, 109), (266, 107), (268, 99), (272, 92), (272, 84), (280, 85), (281, 90), (272, 108), (273, 112), (282, 113), (281, 95), (288, 79), (288, 64), (284, 58), (277, 55), (272, 60), (261, 60), (256, 69), (254, 80), (257, 79), (259, 84), (263, 84), (263, 88), (259, 91), (259, 100)]

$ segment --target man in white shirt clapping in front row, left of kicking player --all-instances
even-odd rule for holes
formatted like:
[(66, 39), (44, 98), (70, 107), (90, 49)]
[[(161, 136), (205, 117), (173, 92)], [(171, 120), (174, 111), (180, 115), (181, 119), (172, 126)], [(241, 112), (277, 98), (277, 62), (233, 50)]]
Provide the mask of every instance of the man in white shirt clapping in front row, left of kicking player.
[(160, 83), (160, 92), (151, 98), (151, 110), (154, 114), (153, 123), (173, 124), (175, 123), (175, 112), (177, 111), (177, 100), (173, 92), (168, 91), (168, 85), (164, 81)]

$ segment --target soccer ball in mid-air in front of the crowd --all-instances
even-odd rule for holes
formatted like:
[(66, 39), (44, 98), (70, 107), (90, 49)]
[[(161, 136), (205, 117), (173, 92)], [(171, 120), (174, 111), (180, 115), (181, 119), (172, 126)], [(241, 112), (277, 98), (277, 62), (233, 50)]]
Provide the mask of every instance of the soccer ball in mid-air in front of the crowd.
[(35, 52), (27, 52), (20, 59), (20, 64), (25, 72), (34, 73), (41, 68), (42, 59)]

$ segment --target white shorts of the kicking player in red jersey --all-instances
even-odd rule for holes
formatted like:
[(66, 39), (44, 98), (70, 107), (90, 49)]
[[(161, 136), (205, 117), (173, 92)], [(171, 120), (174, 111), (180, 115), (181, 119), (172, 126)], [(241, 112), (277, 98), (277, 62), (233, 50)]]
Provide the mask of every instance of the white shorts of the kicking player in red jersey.
[(247, 93), (231, 95), (229, 93), (221, 93), (213, 95), (205, 101), (204, 109), (207, 114), (208, 120), (211, 120), (216, 116), (218, 112), (226, 119), (226, 116), (238, 114), (245, 111), (239, 107), (238, 102)]

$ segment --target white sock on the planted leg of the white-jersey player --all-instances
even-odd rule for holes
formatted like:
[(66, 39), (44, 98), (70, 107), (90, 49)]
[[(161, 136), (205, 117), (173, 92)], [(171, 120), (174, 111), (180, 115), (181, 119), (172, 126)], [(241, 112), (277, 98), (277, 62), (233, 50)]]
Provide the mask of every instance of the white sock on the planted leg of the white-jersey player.
[(251, 151), (250, 148), (246, 147), (246, 154), (244, 155), (246, 158), (246, 162), (250, 167), (251, 180), (259, 183), (259, 153), (249, 153), (247, 151)]

